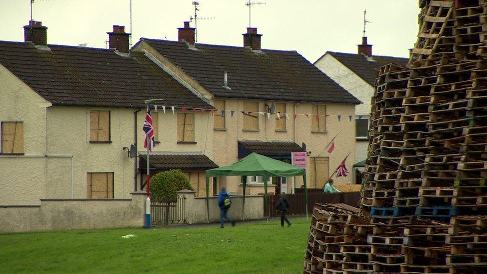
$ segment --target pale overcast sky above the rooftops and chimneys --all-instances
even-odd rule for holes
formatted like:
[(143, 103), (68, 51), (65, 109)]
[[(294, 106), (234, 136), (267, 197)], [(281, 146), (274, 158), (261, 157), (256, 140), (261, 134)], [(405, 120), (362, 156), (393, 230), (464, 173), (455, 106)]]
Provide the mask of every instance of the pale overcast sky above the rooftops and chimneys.
[[(199, 0), (198, 42), (243, 46), (248, 0)], [(262, 0), (252, 27), (262, 48), (296, 50), (310, 62), (326, 51), (357, 52), (363, 11), (374, 55), (408, 57), (418, 33), (418, 0)], [(49, 44), (105, 47), (112, 25), (130, 31), (130, 0), (35, 0), (33, 19), (48, 27)], [(133, 44), (140, 37), (177, 40), (177, 28), (194, 14), (191, 0), (132, 0)], [(0, 40), (23, 41), (30, 0), (0, 0)], [(194, 22), (191, 23), (194, 27)]]

